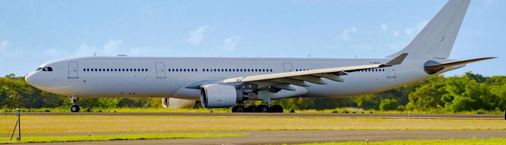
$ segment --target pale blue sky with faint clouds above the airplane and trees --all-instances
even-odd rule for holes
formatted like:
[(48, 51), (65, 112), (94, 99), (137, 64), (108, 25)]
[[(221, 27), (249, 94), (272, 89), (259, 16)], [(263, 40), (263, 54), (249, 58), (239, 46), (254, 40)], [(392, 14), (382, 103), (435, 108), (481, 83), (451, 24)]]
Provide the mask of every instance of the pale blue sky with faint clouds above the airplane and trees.
[[(385, 57), (447, 1), (0, 1), (0, 75), (71, 57)], [(506, 75), (506, 1), (471, 1), (450, 59), (499, 57), (472, 70)]]

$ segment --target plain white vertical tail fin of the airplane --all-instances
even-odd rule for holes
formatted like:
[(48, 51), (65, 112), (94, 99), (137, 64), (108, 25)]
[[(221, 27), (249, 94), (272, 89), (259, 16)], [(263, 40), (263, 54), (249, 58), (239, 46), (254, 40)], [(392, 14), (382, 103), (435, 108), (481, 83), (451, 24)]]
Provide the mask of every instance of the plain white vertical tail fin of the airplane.
[(394, 58), (409, 53), (407, 58), (448, 58), (470, 1), (448, 1), (409, 44), (387, 57)]

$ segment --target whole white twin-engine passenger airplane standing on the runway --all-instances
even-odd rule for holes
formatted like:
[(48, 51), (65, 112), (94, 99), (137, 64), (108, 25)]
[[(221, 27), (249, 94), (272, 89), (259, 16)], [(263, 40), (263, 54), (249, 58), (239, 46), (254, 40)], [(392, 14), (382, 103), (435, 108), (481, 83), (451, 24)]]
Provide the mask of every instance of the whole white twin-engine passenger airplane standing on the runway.
[[(77, 97), (161, 98), (163, 107), (282, 113), (271, 100), (382, 92), (495, 57), (448, 59), (470, 0), (450, 0), (400, 51), (384, 58), (82, 56), (40, 65), (30, 85)], [(66, 68), (66, 69), (65, 69)], [(245, 101), (262, 101), (246, 105)]]

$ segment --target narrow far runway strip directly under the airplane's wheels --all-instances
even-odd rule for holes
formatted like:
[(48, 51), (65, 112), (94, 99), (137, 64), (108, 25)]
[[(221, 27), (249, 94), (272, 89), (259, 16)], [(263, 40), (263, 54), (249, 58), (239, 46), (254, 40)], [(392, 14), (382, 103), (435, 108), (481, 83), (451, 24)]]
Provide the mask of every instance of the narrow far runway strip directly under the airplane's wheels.
[(88, 113), (22, 112), (22, 116), (172, 116), (172, 117), (292, 117), (292, 118), (421, 118), (504, 119), (489, 114), (354, 114), (354, 113)]

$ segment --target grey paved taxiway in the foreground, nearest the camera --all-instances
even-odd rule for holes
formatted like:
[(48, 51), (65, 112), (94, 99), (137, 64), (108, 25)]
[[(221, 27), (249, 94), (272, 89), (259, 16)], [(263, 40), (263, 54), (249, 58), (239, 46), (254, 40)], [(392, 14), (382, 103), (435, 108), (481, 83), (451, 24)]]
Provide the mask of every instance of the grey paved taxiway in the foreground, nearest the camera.
[[(107, 134), (140, 134), (159, 132), (102, 132)], [(164, 132), (173, 133), (173, 132)], [(180, 131), (174, 133), (246, 133), (250, 136), (179, 138), (150, 140), (109, 140), (51, 142), (31, 144), (293, 144), (330, 141), (386, 141), (420, 139), (506, 138), (506, 130), (260, 130), (260, 131)], [(25, 135), (88, 135), (88, 133), (26, 133)]]

